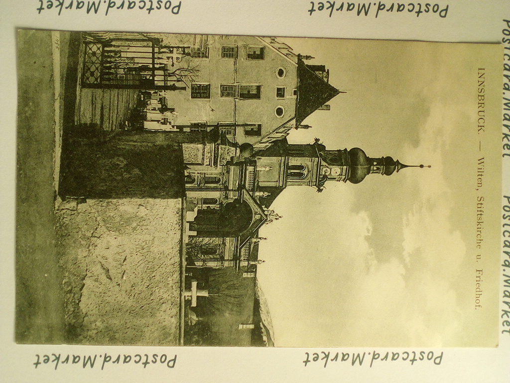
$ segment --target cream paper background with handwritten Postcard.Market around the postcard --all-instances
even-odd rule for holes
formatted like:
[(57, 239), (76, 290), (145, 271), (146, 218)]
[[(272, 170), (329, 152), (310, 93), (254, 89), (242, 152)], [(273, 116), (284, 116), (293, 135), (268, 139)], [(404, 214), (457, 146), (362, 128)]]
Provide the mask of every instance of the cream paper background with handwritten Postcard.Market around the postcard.
[[(387, 2), (389, 4), (389, 2)], [(448, 16), (416, 18), (407, 14), (391, 14), (374, 19), (325, 13), (309, 16), (308, 1), (248, 1), (231, 0), (206, 2), (184, 0), (178, 16), (140, 11), (117, 11), (103, 15), (85, 15), (73, 12), (43, 11), (38, 15), (36, 1), (2, 2), (0, 4), (0, 57), (3, 73), (2, 136), (0, 137), (1, 179), (0, 204), (2, 264), (0, 268), (0, 303), (2, 326), (0, 339), (1, 381), (484, 381), (499, 382), (509, 374), (508, 356), (510, 338), (500, 336), (498, 349), (444, 349), (440, 366), (430, 363), (406, 362), (367, 364), (320, 364), (304, 368), (304, 352), (322, 349), (235, 349), (235, 348), (177, 348), (177, 347), (93, 347), (93, 346), (39, 346), (16, 345), (14, 329), (14, 193), (15, 193), (15, 28), (62, 30), (119, 30), (192, 32), (214, 34), (258, 34), (275, 36), (315, 36), (342, 38), (377, 38), (430, 41), (498, 42), (501, 41), (503, 18), (510, 19), (507, 1), (470, 2), (450, 1)], [(388, 153), (391, 155), (391, 153)], [(508, 157), (507, 157), (508, 158)], [(508, 161), (506, 161), (508, 162)], [(510, 190), (508, 163), (504, 163), (503, 190)], [(501, 299), (500, 299), (501, 300)], [(386, 349), (376, 349), (378, 352)], [(421, 351), (421, 349), (408, 349)], [(428, 351), (428, 349), (425, 349)], [(364, 349), (332, 349), (344, 352), (371, 352)], [(390, 351), (395, 351), (390, 349)], [(397, 350), (398, 351), (398, 350)], [(435, 349), (436, 352), (440, 350)], [(177, 354), (176, 367), (169, 370), (160, 366), (130, 364), (122, 368), (100, 371), (81, 367), (59, 368), (47, 366), (35, 370), (35, 354)]]

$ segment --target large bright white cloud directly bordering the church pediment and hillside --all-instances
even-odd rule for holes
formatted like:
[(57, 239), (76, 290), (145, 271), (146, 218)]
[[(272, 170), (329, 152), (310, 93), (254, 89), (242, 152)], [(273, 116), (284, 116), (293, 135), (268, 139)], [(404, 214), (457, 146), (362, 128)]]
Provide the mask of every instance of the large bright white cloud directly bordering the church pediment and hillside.
[(366, 211), (353, 210), (354, 192), (343, 183), (321, 194), (303, 187), (283, 194), (271, 206), (283, 218), (260, 232), (268, 240), (258, 270), (276, 345), (338, 346), (344, 302), (375, 262), (372, 223)]

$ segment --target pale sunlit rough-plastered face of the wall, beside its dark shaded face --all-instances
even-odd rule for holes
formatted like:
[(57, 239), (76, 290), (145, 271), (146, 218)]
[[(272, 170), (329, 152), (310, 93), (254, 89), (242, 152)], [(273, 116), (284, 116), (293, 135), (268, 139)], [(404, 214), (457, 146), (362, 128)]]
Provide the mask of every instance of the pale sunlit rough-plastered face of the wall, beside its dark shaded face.
[(179, 344), (181, 200), (80, 202), (57, 211), (68, 339)]

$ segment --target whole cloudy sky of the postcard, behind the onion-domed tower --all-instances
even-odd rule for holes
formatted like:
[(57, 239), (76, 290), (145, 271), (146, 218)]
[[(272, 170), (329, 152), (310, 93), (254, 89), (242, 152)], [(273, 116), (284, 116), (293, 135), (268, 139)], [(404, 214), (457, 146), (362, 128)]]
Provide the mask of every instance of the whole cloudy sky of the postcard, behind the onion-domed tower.
[[(498, 112), (477, 135), (477, 68), (500, 78), (490, 45), (286, 40), (325, 64), (347, 93), (304, 122), (291, 143), (362, 148), (431, 169), (294, 186), (271, 205), (258, 278), (277, 346), (495, 346), (499, 254)], [(494, 63), (494, 64), (491, 64)], [(499, 84), (492, 101), (499, 101)], [(497, 107), (497, 106), (496, 106)], [(487, 124), (486, 124), (487, 125)], [(492, 129), (491, 129), (492, 128)], [(481, 144), (479, 144), (481, 140)], [(481, 145), (481, 152), (479, 151)], [(486, 173), (476, 191), (476, 163)], [(486, 200), (476, 263), (476, 197)], [(496, 233), (491, 242), (490, 231)], [(475, 310), (475, 270), (483, 270)]]

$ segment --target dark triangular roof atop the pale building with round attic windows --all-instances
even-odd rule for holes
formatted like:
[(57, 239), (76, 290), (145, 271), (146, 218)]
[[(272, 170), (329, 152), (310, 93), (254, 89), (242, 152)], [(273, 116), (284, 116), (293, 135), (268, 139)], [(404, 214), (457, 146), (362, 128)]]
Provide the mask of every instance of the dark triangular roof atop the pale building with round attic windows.
[(340, 93), (340, 90), (313, 73), (302, 59), (297, 62), (297, 80), (296, 126), (299, 126), (305, 118)]

